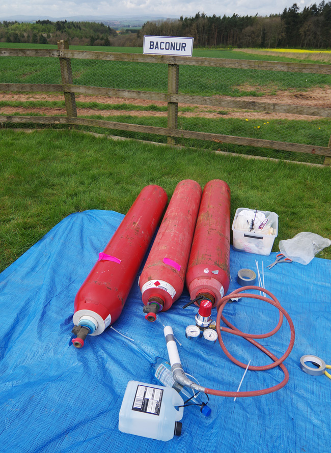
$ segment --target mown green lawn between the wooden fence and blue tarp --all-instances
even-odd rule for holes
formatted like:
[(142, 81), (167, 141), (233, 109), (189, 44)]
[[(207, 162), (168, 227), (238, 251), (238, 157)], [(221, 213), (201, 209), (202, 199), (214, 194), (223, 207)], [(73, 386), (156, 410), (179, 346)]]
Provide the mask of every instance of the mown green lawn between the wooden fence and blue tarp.
[[(226, 181), (231, 222), (238, 207), (276, 212), (273, 251), (280, 239), (301, 231), (331, 237), (328, 167), (174, 150), (75, 131), (0, 130), (0, 270), (68, 214), (87, 209), (124, 214), (147, 184), (161, 185), (170, 200), (182, 179), (202, 187), (211, 179)], [(330, 259), (331, 247), (319, 256)]]

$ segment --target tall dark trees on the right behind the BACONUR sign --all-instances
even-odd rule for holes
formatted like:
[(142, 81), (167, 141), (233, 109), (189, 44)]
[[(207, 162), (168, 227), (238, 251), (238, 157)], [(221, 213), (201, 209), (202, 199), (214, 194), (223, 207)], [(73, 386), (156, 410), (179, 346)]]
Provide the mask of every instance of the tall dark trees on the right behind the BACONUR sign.
[(294, 3), (281, 14), (207, 16), (147, 22), (141, 35), (189, 36), (196, 47), (331, 48), (331, 2), (322, 1), (299, 12)]

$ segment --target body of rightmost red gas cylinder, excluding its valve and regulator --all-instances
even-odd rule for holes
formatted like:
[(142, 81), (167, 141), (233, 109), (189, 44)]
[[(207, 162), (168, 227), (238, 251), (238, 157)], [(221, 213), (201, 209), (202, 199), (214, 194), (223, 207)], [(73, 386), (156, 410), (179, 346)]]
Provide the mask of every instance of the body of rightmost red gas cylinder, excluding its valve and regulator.
[(204, 296), (215, 306), (228, 291), (229, 268), (230, 188), (214, 179), (203, 190), (187, 266), (186, 286), (191, 300)]

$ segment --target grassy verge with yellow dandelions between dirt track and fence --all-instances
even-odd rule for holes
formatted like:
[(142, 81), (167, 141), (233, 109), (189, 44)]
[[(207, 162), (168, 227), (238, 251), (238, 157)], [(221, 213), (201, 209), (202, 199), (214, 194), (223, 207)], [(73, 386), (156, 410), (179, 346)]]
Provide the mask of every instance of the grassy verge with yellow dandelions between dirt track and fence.
[[(107, 120), (115, 121), (119, 123), (130, 123), (140, 124), (146, 126), (155, 127), (167, 127), (166, 115), (162, 117), (155, 116), (134, 116), (133, 112), (140, 111), (160, 111), (166, 114), (167, 106), (157, 106), (150, 104), (147, 106), (134, 105), (134, 104), (100, 104), (97, 102), (77, 102), (77, 108), (93, 108), (95, 109), (94, 115), (84, 115), (84, 110), (79, 114), (80, 118), (90, 118), (94, 120)], [(0, 101), (1, 107), (25, 107), (26, 110), (29, 108), (42, 108), (45, 107), (60, 107), (65, 108), (64, 101)], [(179, 115), (181, 112), (192, 112), (194, 113), (197, 107), (179, 107)], [(121, 110), (119, 115), (101, 115), (104, 110)], [(127, 114), (123, 115), (123, 111), (127, 111)], [(100, 112), (100, 114), (98, 114)], [(224, 112), (226, 113), (226, 112)], [(45, 115), (47, 110), (45, 110)], [(0, 111), (0, 118), (1, 114)], [(14, 112), (12, 115), (24, 116), (41, 116), (36, 112), (22, 114), (21, 112)], [(59, 114), (55, 114), (58, 116)], [(65, 114), (63, 114), (64, 116)], [(261, 120), (261, 119), (250, 119), (245, 118), (245, 113), (242, 113), (242, 118), (222, 118), (222, 111), (219, 118), (202, 118), (202, 117), (181, 117), (179, 116), (179, 128), (183, 130), (199, 131), (207, 133), (222, 133), (225, 135), (235, 135), (241, 137), (260, 138), (266, 140), (275, 141), (287, 141), (290, 143), (306, 144), (312, 146), (328, 146), (330, 137), (331, 125), (328, 119), (316, 119), (313, 121), (304, 120)], [(13, 127), (16, 127), (14, 124)], [(24, 127), (35, 127), (33, 124), (26, 124)], [(46, 127), (46, 126), (43, 126)], [(63, 126), (61, 126), (63, 127)], [(7, 124), (7, 128), (11, 128), (11, 125)], [(86, 130), (84, 126), (76, 126), (81, 130)], [(147, 141), (157, 141), (159, 143), (167, 143), (166, 136), (157, 136), (154, 134), (138, 133), (138, 132), (125, 132), (120, 130), (109, 130), (106, 128), (93, 128), (95, 132), (102, 134), (112, 134), (123, 136), (126, 138), (138, 138)], [(199, 147), (210, 150), (220, 150), (239, 154), (249, 154), (254, 156), (271, 157), (285, 160), (296, 160), (300, 162), (311, 162), (322, 164), (324, 156), (307, 153), (277, 151), (266, 148), (254, 148), (254, 147), (243, 147), (239, 145), (220, 144), (214, 141), (196, 140), (196, 139), (184, 139), (176, 138), (176, 144)]]

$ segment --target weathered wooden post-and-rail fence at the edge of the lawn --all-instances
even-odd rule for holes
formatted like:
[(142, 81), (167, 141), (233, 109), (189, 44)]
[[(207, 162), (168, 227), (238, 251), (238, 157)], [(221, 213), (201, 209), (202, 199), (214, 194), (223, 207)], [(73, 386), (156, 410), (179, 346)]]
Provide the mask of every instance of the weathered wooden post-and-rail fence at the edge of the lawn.
[[(145, 55), (136, 53), (112, 53), (85, 50), (69, 50), (66, 41), (58, 42), (58, 49), (0, 49), (0, 56), (33, 56), (58, 58), (62, 75), (61, 84), (39, 83), (0, 83), (0, 91), (10, 92), (63, 92), (66, 105), (66, 117), (20, 117), (3, 116), (0, 123), (35, 123), (35, 124), (70, 124), (102, 127), (121, 131), (143, 132), (168, 137), (169, 144), (175, 144), (175, 138), (211, 140), (217, 143), (271, 148), (274, 150), (294, 151), (299, 153), (325, 156), (324, 164), (331, 164), (331, 137), (327, 147), (287, 143), (283, 141), (247, 138), (232, 135), (214, 134), (178, 129), (178, 103), (209, 105), (214, 107), (255, 109), (268, 112), (279, 112), (296, 115), (309, 115), (331, 118), (331, 108), (298, 106), (262, 101), (241, 99), (223, 99), (222, 97), (181, 95), (178, 93), (179, 66), (208, 66), (219, 68), (256, 69), (268, 71), (286, 71), (331, 75), (331, 65), (303, 64), (288, 62), (266, 62), (251, 60), (232, 60), (219, 58), (199, 58), (185, 56)], [(136, 90), (120, 90), (99, 87), (88, 87), (73, 84), (71, 59), (90, 59), (99, 61), (140, 62), (168, 65), (168, 92), (157, 93)], [(168, 103), (168, 127), (143, 126), (129, 123), (118, 123), (105, 120), (83, 119), (77, 117), (75, 93), (116, 96), (121, 98), (165, 101)]]

